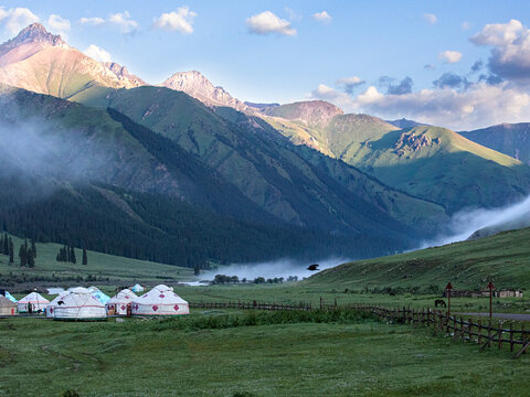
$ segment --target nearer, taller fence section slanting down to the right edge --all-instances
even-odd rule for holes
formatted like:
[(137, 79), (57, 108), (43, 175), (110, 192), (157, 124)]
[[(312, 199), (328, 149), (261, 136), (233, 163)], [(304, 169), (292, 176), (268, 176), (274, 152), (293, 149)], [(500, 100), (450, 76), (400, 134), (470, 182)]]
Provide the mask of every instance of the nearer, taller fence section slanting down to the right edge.
[[(425, 325), (433, 329), (433, 334), (444, 333), (453, 337), (453, 341), (466, 341), (480, 345), (480, 351), (486, 347), (508, 347), (510, 352), (516, 346), (521, 346), (513, 355), (513, 358), (526, 354), (530, 346), (530, 331), (524, 324), (519, 330), (513, 329), (512, 321), (497, 321), (494, 325), (491, 320), (483, 323), (481, 319), (474, 322), (471, 319), (463, 319), (457, 315), (448, 315), (447, 312), (436, 309), (407, 309), (407, 308), (383, 308), (370, 304), (348, 304), (352, 310), (368, 311), (392, 323), (409, 323), (413, 326)], [(506, 323), (508, 326), (505, 326)]]

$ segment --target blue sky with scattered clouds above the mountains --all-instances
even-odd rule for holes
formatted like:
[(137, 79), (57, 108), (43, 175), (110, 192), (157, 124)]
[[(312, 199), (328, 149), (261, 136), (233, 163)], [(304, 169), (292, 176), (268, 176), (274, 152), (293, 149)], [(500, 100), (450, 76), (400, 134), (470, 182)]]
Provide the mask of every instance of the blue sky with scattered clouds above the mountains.
[(34, 21), (150, 84), (195, 69), (242, 100), (530, 121), (527, 1), (0, 1), (2, 42)]

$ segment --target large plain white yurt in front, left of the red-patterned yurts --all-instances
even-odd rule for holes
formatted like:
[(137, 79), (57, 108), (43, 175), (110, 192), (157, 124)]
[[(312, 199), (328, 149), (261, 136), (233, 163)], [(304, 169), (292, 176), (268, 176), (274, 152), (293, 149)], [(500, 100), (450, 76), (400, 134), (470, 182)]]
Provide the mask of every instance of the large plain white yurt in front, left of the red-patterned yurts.
[(103, 320), (107, 318), (105, 304), (99, 302), (86, 288), (74, 288), (57, 301), (53, 320)]

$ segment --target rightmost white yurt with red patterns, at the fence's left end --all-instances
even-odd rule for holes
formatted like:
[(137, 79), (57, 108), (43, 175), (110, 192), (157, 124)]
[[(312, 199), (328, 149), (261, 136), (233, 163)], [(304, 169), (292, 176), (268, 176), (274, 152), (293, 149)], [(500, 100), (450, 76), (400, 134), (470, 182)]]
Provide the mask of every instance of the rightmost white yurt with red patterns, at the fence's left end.
[(168, 286), (157, 286), (149, 292), (136, 298), (131, 304), (132, 315), (177, 315), (190, 314), (187, 301)]

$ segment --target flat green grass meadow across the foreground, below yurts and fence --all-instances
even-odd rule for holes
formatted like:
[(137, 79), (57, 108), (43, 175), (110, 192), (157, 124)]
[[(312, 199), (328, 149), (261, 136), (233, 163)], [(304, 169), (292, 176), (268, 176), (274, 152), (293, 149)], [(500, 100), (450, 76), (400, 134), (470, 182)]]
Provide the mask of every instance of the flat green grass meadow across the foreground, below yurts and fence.
[[(192, 314), (201, 316), (220, 313)], [(242, 319), (244, 313), (235, 313)], [(233, 315), (233, 314), (231, 314)], [(0, 395), (505, 396), (528, 360), (370, 318), (179, 329), (179, 320), (0, 320)], [(203, 322), (202, 322), (203, 323)], [(204, 324), (203, 324), (204, 325)]]

